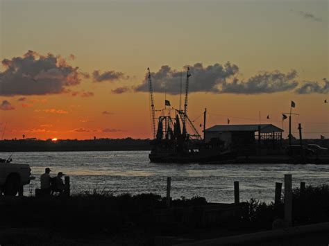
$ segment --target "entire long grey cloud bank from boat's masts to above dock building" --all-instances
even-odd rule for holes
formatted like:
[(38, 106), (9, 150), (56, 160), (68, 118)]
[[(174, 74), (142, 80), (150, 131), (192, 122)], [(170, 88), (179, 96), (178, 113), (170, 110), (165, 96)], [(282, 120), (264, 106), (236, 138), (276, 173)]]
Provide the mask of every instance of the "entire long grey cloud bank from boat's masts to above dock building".
[[(187, 66), (185, 66), (185, 69)], [(214, 64), (203, 67), (202, 63), (196, 63), (190, 68), (189, 92), (212, 92), (231, 94), (266, 94), (280, 91), (289, 91), (298, 86), (295, 81), (295, 70), (289, 73), (280, 71), (264, 72), (239, 81), (237, 79), (239, 67), (235, 64)], [(141, 85), (135, 87), (135, 91), (149, 91), (148, 74)], [(153, 91), (168, 94), (180, 93), (180, 71), (162, 66), (156, 73), (151, 73)], [(186, 72), (183, 73), (183, 92), (185, 91)]]

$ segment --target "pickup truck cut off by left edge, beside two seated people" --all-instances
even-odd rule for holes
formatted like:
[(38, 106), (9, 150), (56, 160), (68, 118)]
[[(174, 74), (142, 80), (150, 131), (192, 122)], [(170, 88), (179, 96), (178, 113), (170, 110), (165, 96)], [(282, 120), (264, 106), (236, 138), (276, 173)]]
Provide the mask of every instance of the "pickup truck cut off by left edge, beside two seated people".
[(0, 195), (16, 195), (21, 186), (30, 184), (31, 168), (28, 164), (14, 164), (0, 159)]

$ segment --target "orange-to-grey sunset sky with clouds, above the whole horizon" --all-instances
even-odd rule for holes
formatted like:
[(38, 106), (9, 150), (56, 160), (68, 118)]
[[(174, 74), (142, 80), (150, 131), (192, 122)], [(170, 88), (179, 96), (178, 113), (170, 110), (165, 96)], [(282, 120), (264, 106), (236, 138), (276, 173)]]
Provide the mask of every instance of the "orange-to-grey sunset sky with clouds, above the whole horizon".
[(209, 127), (261, 112), (282, 128), (294, 100), (294, 135), (302, 123), (329, 138), (328, 12), (327, 0), (0, 0), (0, 137), (151, 138), (147, 67), (160, 109), (165, 91), (179, 107), (189, 66), (198, 128), (205, 107)]

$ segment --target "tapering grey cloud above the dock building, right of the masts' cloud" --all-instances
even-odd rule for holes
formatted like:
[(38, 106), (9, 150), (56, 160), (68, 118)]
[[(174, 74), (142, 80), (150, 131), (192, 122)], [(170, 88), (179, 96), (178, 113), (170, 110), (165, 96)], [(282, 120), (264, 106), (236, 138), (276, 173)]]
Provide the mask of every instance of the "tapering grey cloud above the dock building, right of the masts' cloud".
[(246, 82), (239, 81), (237, 78), (233, 82), (223, 82), (221, 93), (233, 94), (271, 94), (281, 91), (290, 91), (298, 86), (295, 80), (297, 72), (295, 70), (289, 73), (280, 71), (265, 72), (249, 78)]

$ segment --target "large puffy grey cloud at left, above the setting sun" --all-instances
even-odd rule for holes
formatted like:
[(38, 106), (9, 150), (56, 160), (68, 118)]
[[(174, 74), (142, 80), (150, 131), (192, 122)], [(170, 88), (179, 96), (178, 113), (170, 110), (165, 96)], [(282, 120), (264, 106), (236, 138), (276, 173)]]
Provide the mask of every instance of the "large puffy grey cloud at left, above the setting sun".
[(0, 96), (60, 94), (78, 85), (85, 73), (71, 67), (60, 55), (28, 51), (22, 57), (4, 59), (0, 73)]

